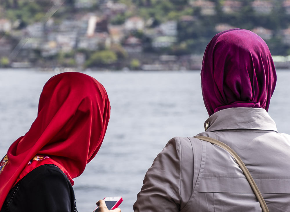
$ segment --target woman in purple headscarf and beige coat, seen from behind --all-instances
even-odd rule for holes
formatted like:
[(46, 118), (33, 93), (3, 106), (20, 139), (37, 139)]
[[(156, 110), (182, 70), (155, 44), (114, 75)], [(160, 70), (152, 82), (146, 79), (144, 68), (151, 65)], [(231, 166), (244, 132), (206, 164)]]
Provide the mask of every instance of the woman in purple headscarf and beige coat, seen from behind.
[(206, 47), (201, 80), (209, 118), (197, 136), (238, 154), (264, 206), (227, 150), (175, 137), (148, 169), (134, 211), (290, 211), (290, 136), (267, 113), (276, 79), (267, 44), (249, 30), (221, 32)]

